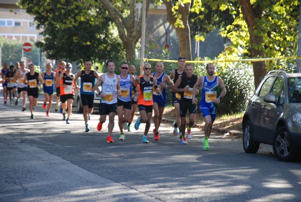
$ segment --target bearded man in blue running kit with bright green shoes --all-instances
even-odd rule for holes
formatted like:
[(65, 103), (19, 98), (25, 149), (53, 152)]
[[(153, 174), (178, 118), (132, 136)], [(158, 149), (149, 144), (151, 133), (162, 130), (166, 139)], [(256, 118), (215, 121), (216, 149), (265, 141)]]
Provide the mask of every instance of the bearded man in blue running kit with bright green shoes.
[[(214, 75), (215, 66), (212, 63), (209, 63), (206, 66), (206, 70), (207, 75), (200, 77), (193, 87), (193, 103), (195, 104), (198, 102), (196, 98), (197, 88), (202, 88), (200, 111), (202, 112), (205, 121), (205, 137), (202, 139), (204, 150), (209, 149), (208, 138), (211, 134), (212, 125), (216, 117), (217, 106), (220, 104), (222, 97), (225, 96), (227, 92), (223, 79)], [(218, 87), (221, 88), (220, 95), (217, 95)]]

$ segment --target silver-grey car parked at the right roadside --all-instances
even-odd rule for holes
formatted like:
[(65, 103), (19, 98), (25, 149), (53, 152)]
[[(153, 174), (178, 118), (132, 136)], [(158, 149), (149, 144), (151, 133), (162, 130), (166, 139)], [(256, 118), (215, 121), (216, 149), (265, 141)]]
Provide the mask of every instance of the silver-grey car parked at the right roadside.
[(301, 154), (301, 73), (268, 72), (248, 103), (242, 128), (246, 153), (264, 143), (280, 161), (294, 161)]

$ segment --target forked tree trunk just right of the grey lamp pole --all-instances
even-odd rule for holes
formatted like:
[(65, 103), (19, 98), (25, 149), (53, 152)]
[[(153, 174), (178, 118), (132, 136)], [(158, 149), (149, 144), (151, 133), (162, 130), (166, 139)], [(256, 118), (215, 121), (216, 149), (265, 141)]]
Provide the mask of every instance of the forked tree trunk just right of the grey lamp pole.
[[(172, 1), (164, 0), (167, 11), (167, 21), (175, 27), (177, 18), (174, 16), (173, 12), (173, 3)], [(183, 21), (184, 28), (175, 27), (179, 45), (180, 45), (180, 56), (186, 57), (186, 60), (192, 60), (191, 55), (191, 38), (190, 38), (190, 27), (188, 23), (188, 17), (190, 13), (191, 3), (187, 3), (183, 6), (179, 6), (178, 13), (182, 16), (181, 20)]]

